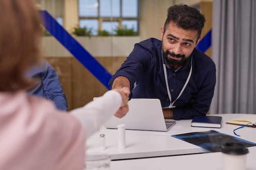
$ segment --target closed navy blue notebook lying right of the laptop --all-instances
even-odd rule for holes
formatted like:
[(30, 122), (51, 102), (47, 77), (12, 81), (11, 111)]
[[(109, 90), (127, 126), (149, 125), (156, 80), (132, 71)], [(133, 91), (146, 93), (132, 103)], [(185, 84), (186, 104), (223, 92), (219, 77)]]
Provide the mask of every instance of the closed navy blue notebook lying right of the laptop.
[(220, 128), (221, 116), (195, 116), (191, 121), (193, 127)]

